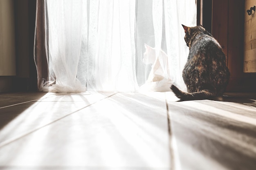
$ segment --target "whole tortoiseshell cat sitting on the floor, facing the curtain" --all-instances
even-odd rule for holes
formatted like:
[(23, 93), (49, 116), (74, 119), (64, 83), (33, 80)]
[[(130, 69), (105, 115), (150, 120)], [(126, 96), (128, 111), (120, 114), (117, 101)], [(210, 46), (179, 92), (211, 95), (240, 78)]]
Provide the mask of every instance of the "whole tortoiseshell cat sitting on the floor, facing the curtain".
[(174, 85), (171, 90), (181, 101), (222, 96), (230, 73), (220, 44), (202, 26), (182, 26), (189, 46), (189, 57), (182, 72), (188, 93)]

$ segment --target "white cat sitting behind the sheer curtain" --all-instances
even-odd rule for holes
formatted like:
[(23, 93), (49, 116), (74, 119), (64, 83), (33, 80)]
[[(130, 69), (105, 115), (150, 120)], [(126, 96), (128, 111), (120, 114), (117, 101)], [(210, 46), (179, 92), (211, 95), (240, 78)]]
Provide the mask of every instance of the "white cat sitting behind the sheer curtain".
[(142, 85), (141, 91), (170, 91), (171, 76), (168, 64), (168, 56), (163, 50), (159, 50), (145, 44), (145, 53), (143, 62), (152, 64), (151, 71), (146, 83)]

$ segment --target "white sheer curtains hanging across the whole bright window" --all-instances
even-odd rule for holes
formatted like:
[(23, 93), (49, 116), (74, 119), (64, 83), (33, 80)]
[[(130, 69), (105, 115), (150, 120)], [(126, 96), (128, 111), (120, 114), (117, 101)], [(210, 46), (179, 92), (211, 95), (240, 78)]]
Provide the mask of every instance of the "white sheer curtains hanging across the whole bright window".
[(45, 23), (40, 90), (186, 89), (181, 24), (195, 26), (195, 0), (45, 0)]

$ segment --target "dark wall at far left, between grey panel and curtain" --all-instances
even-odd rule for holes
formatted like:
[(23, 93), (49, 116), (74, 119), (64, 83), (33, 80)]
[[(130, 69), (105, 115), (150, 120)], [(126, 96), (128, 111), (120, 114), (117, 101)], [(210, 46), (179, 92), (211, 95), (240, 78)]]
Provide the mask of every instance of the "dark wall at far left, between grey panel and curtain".
[(16, 76), (0, 76), (0, 92), (37, 91), (34, 63), (36, 0), (14, 0)]

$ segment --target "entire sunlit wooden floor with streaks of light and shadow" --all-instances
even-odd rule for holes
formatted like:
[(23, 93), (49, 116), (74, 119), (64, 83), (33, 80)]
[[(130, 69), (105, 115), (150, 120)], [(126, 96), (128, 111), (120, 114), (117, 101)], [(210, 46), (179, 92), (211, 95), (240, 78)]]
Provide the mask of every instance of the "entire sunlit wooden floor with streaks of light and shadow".
[(256, 94), (0, 93), (0, 170), (256, 170)]

